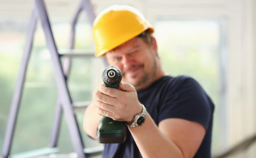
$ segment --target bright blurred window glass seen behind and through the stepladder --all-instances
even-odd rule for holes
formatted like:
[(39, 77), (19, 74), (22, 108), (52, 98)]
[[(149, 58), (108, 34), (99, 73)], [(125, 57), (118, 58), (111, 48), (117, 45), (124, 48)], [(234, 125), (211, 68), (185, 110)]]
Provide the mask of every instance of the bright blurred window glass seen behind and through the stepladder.
[[(11, 20), (8, 24), (0, 21), (0, 153), (7, 127), (7, 120), (13, 97), (21, 58), (23, 55), (27, 24)], [(70, 23), (52, 23), (52, 32), (58, 50), (68, 48)], [(75, 49), (93, 50), (91, 26), (87, 22), (76, 25)], [(74, 58), (68, 78), (70, 95), (74, 102), (88, 101), (92, 98), (91, 60)], [(47, 147), (56, 110), (58, 89), (53, 72), (51, 56), (46, 47), (45, 35), (38, 22), (34, 35), (34, 45), (29, 60), (25, 86), (20, 102), (16, 129), (11, 146), (11, 154)], [(76, 115), (81, 135), (86, 147), (98, 145), (90, 139), (82, 127), (83, 111)], [(61, 131), (58, 139), (61, 153), (70, 153), (74, 149), (70, 140), (66, 118), (62, 117)]]

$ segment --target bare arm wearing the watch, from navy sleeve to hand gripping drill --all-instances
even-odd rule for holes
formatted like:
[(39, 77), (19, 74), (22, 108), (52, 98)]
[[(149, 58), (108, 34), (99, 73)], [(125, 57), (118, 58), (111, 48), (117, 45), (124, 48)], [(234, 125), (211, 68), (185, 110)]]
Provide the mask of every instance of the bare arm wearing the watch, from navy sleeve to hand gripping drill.
[[(142, 107), (130, 84), (120, 82), (119, 89), (99, 86), (94, 95), (97, 112), (113, 120), (132, 122)], [(196, 122), (168, 118), (159, 127), (147, 113), (144, 125), (129, 130), (144, 158), (192, 158), (204, 138), (205, 129)]]

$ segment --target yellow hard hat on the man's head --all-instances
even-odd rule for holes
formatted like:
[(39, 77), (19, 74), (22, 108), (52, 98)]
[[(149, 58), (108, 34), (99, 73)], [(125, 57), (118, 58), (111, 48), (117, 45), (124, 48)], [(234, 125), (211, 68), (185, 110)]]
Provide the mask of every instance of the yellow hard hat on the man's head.
[(138, 36), (146, 29), (154, 32), (152, 25), (141, 12), (128, 5), (112, 5), (95, 18), (92, 34), (99, 57)]

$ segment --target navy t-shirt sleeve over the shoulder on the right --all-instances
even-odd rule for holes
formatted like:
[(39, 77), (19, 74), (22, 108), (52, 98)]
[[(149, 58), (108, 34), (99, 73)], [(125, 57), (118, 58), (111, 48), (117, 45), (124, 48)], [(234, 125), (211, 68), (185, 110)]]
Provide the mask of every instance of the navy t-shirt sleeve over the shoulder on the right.
[(213, 113), (213, 103), (193, 78), (177, 78), (170, 85), (159, 108), (159, 121), (166, 118), (182, 118), (195, 121), (208, 129)]

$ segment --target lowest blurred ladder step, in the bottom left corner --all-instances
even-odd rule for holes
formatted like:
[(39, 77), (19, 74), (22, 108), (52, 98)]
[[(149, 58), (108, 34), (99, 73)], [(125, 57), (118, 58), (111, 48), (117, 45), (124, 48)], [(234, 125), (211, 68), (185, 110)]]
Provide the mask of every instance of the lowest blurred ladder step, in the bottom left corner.
[(37, 156), (49, 155), (58, 153), (59, 150), (57, 147), (45, 147), (40, 149), (35, 149), (31, 151), (26, 151), (18, 154), (10, 155), (11, 158), (35, 158)]

